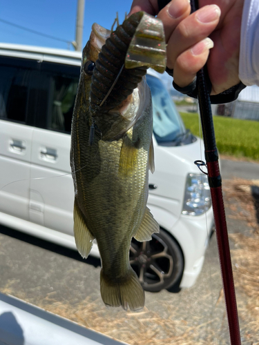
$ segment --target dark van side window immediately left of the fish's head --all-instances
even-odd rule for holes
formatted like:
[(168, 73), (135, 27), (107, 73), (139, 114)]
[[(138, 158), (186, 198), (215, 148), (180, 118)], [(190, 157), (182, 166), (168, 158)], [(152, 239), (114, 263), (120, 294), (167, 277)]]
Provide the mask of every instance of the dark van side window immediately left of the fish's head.
[(43, 62), (36, 126), (70, 133), (80, 67)]

